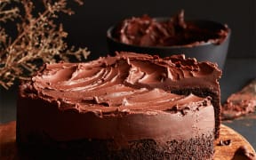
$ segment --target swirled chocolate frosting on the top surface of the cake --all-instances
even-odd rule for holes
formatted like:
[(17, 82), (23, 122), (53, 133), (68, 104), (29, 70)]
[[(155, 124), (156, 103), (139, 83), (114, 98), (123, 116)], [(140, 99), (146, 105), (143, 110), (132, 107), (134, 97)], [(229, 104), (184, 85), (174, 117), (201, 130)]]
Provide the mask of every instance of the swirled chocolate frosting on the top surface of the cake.
[[(181, 61), (175, 62), (179, 59)], [(96, 108), (99, 108), (98, 114), (116, 109), (124, 112), (172, 110), (174, 106), (182, 110), (188, 102), (201, 102), (204, 98), (164, 92), (168, 90), (166, 86), (186, 88), (193, 81), (211, 86), (216, 82), (205, 81), (205, 78), (220, 76), (214, 73), (214, 68), (212, 63), (197, 64), (196, 60), (185, 60), (182, 56), (163, 60), (121, 53), (89, 63), (46, 65), (43, 72), (33, 77), (32, 87), (43, 99), (58, 100), (61, 109), (77, 108), (80, 112)]]

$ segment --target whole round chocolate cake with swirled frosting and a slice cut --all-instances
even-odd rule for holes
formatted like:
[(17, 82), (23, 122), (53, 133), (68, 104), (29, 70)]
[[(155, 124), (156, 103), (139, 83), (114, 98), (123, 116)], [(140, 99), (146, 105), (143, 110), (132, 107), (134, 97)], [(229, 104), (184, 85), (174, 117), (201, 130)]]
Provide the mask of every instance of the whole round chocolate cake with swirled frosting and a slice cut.
[(40, 157), (212, 159), (220, 75), (183, 55), (47, 64), (20, 84), (17, 142)]

